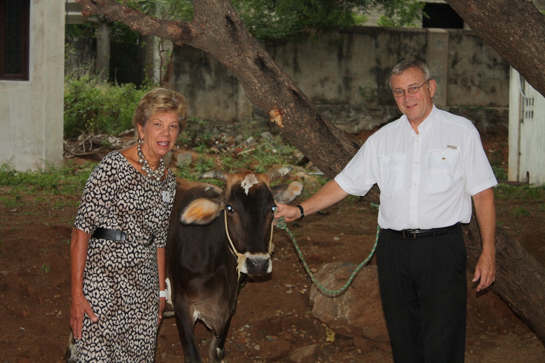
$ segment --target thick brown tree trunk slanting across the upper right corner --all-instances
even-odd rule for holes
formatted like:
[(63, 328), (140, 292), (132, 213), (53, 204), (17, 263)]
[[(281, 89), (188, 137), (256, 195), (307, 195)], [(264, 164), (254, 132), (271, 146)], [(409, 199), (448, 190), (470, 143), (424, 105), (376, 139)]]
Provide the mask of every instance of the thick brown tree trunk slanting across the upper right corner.
[(545, 15), (527, 0), (445, 0), (539, 93), (545, 95)]

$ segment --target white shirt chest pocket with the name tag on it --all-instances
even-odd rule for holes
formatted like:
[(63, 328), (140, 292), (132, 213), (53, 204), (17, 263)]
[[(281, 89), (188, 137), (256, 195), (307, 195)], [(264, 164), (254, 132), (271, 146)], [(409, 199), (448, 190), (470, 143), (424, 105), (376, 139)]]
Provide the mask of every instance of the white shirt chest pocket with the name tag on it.
[(431, 150), (428, 152), (428, 181), (426, 189), (433, 193), (449, 190), (459, 179), (460, 152)]

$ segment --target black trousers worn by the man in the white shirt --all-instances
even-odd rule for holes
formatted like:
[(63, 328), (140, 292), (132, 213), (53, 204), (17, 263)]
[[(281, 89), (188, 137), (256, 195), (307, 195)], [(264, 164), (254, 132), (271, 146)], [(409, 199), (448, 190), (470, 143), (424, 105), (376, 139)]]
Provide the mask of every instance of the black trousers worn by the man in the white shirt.
[(417, 239), (381, 230), (380, 296), (396, 363), (462, 363), (467, 253), (462, 229)]

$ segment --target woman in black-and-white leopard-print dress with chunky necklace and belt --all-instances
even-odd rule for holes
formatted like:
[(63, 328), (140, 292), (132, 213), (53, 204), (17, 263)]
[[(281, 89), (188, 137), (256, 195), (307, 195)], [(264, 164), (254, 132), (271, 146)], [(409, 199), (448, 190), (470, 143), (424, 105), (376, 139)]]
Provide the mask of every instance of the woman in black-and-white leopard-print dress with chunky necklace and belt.
[(132, 118), (137, 144), (108, 153), (89, 176), (70, 247), (78, 362), (154, 360), (176, 187), (163, 157), (178, 150), (185, 120), (183, 96), (150, 91)]

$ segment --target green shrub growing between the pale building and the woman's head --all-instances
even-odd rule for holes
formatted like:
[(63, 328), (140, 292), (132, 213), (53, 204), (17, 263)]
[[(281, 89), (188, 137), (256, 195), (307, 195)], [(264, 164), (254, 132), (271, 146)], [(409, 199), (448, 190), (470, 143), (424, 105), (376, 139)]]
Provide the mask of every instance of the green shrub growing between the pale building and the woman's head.
[(82, 75), (64, 80), (64, 137), (82, 133), (117, 134), (132, 128), (136, 105), (151, 89), (134, 84), (114, 85), (98, 76)]

